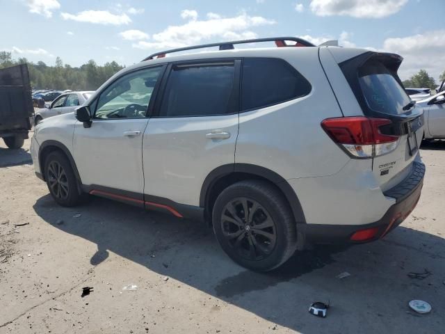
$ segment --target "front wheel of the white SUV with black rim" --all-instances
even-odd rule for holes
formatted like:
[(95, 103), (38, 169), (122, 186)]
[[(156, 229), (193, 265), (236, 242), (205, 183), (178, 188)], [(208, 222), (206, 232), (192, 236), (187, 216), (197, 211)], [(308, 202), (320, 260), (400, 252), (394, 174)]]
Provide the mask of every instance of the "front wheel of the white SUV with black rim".
[(81, 202), (76, 175), (70, 161), (61, 152), (49, 153), (44, 163), (44, 177), (52, 198), (63, 207), (74, 207)]

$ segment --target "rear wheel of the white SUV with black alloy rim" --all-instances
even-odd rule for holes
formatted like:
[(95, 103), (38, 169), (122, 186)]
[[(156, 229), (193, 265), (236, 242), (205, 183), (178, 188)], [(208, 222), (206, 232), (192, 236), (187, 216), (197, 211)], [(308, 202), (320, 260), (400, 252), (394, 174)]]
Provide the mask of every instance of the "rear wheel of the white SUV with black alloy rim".
[(212, 218), (220, 246), (245, 268), (270, 271), (295, 253), (293, 214), (282, 193), (268, 182), (248, 180), (228, 186), (216, 199)]

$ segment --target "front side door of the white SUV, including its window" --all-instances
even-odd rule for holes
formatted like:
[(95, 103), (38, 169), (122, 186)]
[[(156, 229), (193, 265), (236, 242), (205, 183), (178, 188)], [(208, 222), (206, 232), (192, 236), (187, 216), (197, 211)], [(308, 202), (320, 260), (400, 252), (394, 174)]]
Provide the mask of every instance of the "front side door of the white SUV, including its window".
[(124, 74), (90, 104), (91, 127), (76, 123), (74, 159), (83, 184), (143, 199), (142, 139), (162, 71), (157, 66)]

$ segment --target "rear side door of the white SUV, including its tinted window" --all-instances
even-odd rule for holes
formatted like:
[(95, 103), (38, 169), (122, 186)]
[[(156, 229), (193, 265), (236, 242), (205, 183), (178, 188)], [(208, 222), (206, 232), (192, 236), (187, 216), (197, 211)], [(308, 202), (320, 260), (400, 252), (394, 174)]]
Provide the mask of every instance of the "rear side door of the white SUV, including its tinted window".
[(241, 61), (169, 66), (143, 137), (145, 200), (199, 205), (209, 173), (234, 164)]

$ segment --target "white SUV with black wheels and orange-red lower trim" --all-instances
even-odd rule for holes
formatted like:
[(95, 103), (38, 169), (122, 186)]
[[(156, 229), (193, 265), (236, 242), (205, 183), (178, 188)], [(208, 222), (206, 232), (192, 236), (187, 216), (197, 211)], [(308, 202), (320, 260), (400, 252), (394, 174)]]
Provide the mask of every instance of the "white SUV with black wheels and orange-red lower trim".
[[(234, 49), (270, 40), (279, 47)], [(209, 46), (220, 50), (165, 57)], [(60, 205), (89, 193), (207, 221), (257, 271), (307, 242), (379, 239), (414, 209), (425, 173), (401, 61), (298, 38), (160, 52), (75, 115), (43, 120), (35, 172)]]

